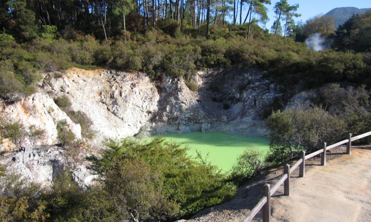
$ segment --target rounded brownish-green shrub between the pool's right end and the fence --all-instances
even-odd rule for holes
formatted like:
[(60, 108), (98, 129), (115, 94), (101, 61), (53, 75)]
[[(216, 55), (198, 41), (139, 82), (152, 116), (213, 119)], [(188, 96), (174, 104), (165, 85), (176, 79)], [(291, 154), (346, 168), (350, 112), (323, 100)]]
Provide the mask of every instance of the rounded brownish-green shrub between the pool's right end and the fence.
[(320, 107), (288, 108), (273, 112), (268, 117), (270, 134), (266, 161), (280, 164), (301, 150), (307, 153), (322, 149), (323, 142), (344, 138), (346, 122)]

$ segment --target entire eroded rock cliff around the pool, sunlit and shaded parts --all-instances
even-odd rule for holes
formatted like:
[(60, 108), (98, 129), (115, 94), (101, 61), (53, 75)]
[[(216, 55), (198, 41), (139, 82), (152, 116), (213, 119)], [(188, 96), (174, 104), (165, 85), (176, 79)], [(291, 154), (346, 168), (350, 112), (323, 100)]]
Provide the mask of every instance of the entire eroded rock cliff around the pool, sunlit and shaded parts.
[[(91, 143), (100, 144), (106, 137), (190, 131), (266, 136), (262, 116), (274, 98), (282, 95), (272, 80), (251, 69), (200, 71), (192, 80), (199, 88), (197, 92), (182, 79), (165, 76), (153, 82), (139, 72), (72, 68), (43, 75), (39, 92), (0, 107), (3, 119), (45, 130), (44, 139), (36, 144), (49, 145), (48, 149), (32, 149), (30, 141), (25, 140), (28, 148), (5, 154), (0, 160), (7, 171), (20, 172), (42, 186), (50, 186), (56, 173), (71, 165), (71, 155), (53, 146), (58, 143), (57, 122), (66, 120), (69, 130), (81, 138), (81, 126), (53, 98), (68, 96), (71, 109), (85, 113), (92, 121), (91, 129), (97, 136)], [(73, 176), (81, 187), (96, 178), (83, 159), (72, 164)]]

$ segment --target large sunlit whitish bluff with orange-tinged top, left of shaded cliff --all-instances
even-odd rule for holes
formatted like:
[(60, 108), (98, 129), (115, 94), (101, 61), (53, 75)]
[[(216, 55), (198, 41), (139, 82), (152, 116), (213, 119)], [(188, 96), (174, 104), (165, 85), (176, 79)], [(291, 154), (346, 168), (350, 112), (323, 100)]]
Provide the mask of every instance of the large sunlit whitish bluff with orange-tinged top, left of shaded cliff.
[(97, 141), (133, 136), (158, 110), (160, 95), (144, 73), (73, 68), (59, 77), (48, 75), (43, 90), (67, 95), (72, 109), (93, 122)]

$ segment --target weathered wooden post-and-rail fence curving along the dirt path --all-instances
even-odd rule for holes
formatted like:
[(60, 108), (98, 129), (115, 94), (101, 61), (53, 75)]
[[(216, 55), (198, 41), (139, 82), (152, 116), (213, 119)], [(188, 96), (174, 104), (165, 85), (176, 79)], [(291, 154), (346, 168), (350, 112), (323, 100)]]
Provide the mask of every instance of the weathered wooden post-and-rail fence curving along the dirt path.
[(272, 186), (270, 184), (265, 183), (263, 188), (262, 188), (262, 193), (263, 193), (263, 198), (261, 198), (258, 202), (257, 205), (250, 211), (249, 215), (246, 216), (242, 222), (248, 222), (251, 221), (255, 215), (262, 210), (262, 217), (263, 217), (263, 222), (270, 222), (272, 221), (272, 215), (270, 214), (271, 212), (271, 201), (270, 198), (274, 194), (274, 192), (279, 189), (281, 184), (284, 184), (284, 195), (289, 196), (290, 195), (290, 174), (297, 168), (299, 167), (299, 177), (304, 177), (305, 176), (305, 160), (312, 158), (314, 156), (317, 156), (321, 154), (321, 165), (325, 166), (326, 165), (326, 152), (336, 146), (343, 145), (347, 143), (347, 154), (351, 154), (351, 146), (352, 146), (352, 141), (355, 141), (357, 139), (364, 138), (366, 136), (371, 135), (371, 131), (367, 133), (360, 134), (358, 136), (352, 137), (352, 134), (349, 134), (349, 138), (337, 143), (334, 143), (332, 145), (326, 146), (326, 143), (324, 142), (323, 149), (316, 151), (312, 154), (308, 154), (305, 156), (305, 151), (301, 152), (300, 159), (292, 165), (290, 168), (289, 164), (284, 165), (284, 173), (281, 176), (281, 178)]

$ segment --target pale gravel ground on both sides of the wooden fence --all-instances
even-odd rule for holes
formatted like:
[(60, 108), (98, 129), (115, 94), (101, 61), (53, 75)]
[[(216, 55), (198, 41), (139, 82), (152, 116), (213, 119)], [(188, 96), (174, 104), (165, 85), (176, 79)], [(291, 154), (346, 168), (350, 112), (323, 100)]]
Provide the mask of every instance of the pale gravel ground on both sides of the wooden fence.
[[(298, 169), (291, 175), (291, 195), (283, 196), (281, 186), (272, 197), (273, 221), (371, 221), (370, 148), (362, 146), (345, 155), (344, 146), (336, 147), (327, 154), (326, 166), (320, 166), (320, 158), (306, 160), (305, 177), (298, 177)], [(265, 172), (240, 187), (233, 200), (188, 221), (241, 221), (261, 198), (263, 184), (275, 183), (282, 172)], [(261, 221), (261, 212), (254, 221)]]

